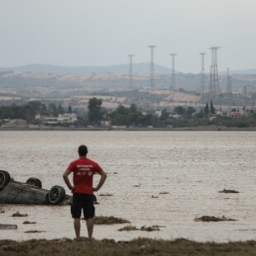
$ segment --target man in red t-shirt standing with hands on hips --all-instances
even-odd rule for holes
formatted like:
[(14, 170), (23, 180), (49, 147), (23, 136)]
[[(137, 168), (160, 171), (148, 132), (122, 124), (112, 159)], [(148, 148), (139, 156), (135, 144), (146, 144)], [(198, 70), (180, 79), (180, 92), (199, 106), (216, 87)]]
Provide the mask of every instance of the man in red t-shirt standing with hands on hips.
[[(71, 205), (71, 214), (73, 217), (73, 226), (76, 239), (80, 239), (80, 218), (83, 209), (83, 216), (86, 220), (88, 229), (88, 238), (92, 240), (93, 218), (95, 208), (93, 206), (93, 192), (98, 191), (107, 178), (107, 174), (102, 168), (91, 159), (87, 158), (88, 148), (80, 145), (78, 148), (79, 159), (69, 164), (69, 167), (63, 174), (64, 182), (73, 193), (73, 202)], [(69, 174), (73, 172), (73, 186), (69, 181)], [(92, 187), (92, 178), (95, 173), (101, 175), (97, 187)]]

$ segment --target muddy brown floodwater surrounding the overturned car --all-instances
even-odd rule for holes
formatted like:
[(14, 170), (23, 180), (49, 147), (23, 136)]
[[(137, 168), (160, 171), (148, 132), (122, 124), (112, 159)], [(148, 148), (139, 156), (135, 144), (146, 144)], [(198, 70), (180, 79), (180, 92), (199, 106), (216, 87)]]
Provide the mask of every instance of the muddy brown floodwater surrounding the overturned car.
[[(162, 226), (154, 232), (121, 232), (124, 225), (95, 225), (96, 239), (256, 239), (255, 139), (254, 131), (1, 131), (0, 169), (17, 181), (36, 177), (45, 188), (65, 187), (62, 173), (78, 157), (78, 145), (85, 144), (88, 157), (108, 173), (97, 192), (97, 216), (125, 218), (138, 228)], [(223, 189), (239, 193), (220, 193)], [(1, 207), (0, 223), (18, 229), (0, 230), (0, 239), (74, 237), (69, 206)], [(14, 218), (16, 211), (28, 216)], [(200, 216), (237, 221), (194, 221)], [(85, 225), (82, 235), (87, 235)]]

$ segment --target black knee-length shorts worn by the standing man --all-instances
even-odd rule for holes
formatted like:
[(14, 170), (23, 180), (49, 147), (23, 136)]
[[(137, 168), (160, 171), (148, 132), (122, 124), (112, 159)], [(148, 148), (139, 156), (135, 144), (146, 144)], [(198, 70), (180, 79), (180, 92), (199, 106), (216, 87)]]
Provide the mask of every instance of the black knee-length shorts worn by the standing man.
[(95, 215), (95, 208), (93, 206), (93, 195), (88, 194), (73, 194), (73, 202), (71, 205), (71, 215), (74, 219), (81, 218), (83, 209), (83, 216), (85, 220), (92, 219)]

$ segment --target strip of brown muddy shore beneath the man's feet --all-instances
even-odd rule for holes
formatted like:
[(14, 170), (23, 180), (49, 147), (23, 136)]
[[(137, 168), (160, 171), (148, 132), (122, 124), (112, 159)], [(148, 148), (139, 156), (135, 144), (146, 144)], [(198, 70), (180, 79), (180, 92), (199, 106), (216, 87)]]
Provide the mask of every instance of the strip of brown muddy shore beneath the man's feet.
[(187, 239), (162, 240), (138, 238), (116, 242), (94, 239), (0, 240), (0, 255), (255, 255), (256, 241), (216, 244)]

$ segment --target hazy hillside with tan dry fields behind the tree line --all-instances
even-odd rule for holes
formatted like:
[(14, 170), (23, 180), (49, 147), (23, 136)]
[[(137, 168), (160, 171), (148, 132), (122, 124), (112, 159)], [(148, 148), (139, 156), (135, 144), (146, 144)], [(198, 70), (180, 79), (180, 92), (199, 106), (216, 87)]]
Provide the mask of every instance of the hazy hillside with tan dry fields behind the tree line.
[[(170, 74), (156, 74), (155, 88), (150, 86), (149, 73), (134, 73), (130, 88), (129, 73), (0, 73), (0, 104), (21, 104), (31, 99), (47, 102), (64, 102), (73, 107), (87, 107), (91, 97), (104, 98), (108, 108), (119, 104), (150, 107), (193, 106), (200, 108), (211, 99), (209, 79), (205, 79), (205, 95), (201, 98), (201, 74), (177, 73), (174, 92)], [(220, 106), (254, 105), (256, 75), (237, 74), (232, 76), (233, 97), (226, 96), (226, 77), (220, 75)], [(246, 89), (246, 90), (245, 90)], [(153, 95), (153, 97), (152, 97)]]

